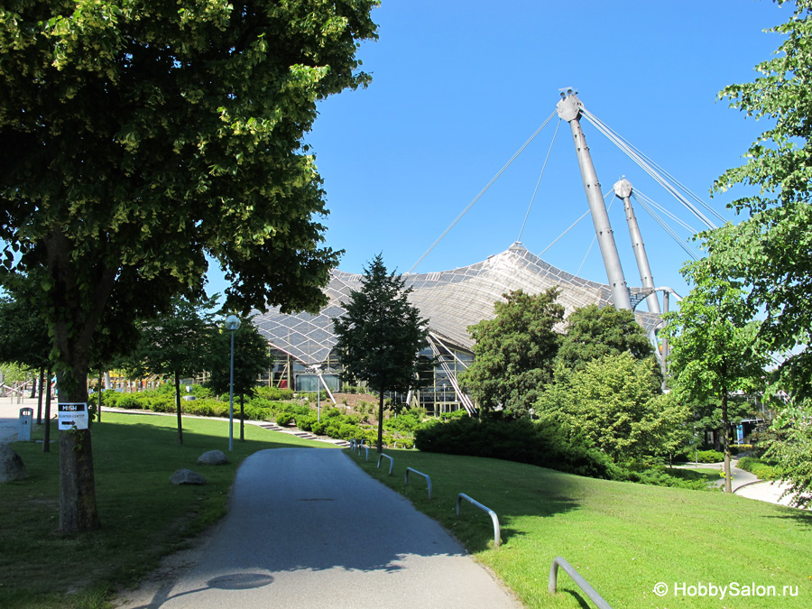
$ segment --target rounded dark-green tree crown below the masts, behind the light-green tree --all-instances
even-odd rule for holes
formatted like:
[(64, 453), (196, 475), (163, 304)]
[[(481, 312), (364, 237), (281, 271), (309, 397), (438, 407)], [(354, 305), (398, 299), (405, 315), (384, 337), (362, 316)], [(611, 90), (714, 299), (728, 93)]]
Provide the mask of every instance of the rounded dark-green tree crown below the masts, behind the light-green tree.
[(654, 355), (646, 332), (630, 310), (589, 305), (575, 309), (567, 318), (567, 328), (558, 349), (558, 360), (572, 370), (605, 355), (628, 351), (635, 359)]

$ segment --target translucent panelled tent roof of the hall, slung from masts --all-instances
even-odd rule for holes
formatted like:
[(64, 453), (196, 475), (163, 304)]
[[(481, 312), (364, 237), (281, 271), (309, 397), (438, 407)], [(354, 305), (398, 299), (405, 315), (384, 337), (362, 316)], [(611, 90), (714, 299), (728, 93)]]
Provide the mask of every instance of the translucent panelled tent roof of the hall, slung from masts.
[[(349, 300), (350, 291), (361, 289), (361, 277), (333, 271), (325, 288), (328, 305), (318, 315), (284, 315), (279, 309), (271, 309), (257, 314), (254, 324), (281, 351), (304, 364), (320, 364), (336, 346), (332, 318), (345, 312), (341, 303)], [(474, 346), (468, 326), (494, 318), (494, 302), (508, 291), (538, 294), (559, 286), (558, 302), (564, 305), (566, 315), (591, 304), (603, 307), (612, 302), (608, 285), (561, 271), (531, 254), (521, 243), (481, 263), (451, 271), (404, 274), (403, 278), (413, 289), (411, 302), (420, 309), (422, 317), (429, 319), (431, 331), (468, 351), (473, 351)], [(641, 290), (631, 289), (632, 302)], [(635, 317), (647, 332), (659, 322), (659, 316), (649, 312), (635, 311)]]

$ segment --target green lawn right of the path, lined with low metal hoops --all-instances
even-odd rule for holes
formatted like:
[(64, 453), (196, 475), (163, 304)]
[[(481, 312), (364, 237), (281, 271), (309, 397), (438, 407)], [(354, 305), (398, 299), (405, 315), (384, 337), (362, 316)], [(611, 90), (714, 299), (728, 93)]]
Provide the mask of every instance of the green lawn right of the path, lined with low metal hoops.
[[(386, 450), (394, 457), (377, 469), (355, 461), (371, 475), (405, 494), (422, 512), (463, 541), (476, 558), (503, 579), (528, 607), (592, 606), (563, 570), (558, 595), (547, 592), (553, 558), (566, 558), (614, 609), (651, 607), (734, 607), (812, 605), (812, 514), (716, 491), (618, 483), (561, 474), (495, 459)], [(426, 482), (407, 466), (431, 476)], [(491, 519), (463, 503), (457, 493), (484, 503), (499, 516), (503, 545), (494, 548)], [(663, 597), (656, 584), (669, 586)], [(690, 596), (686, 586), (775, 586), (776, 596)], [(797, 596), (782, 596), (798, 586)], [(686, 592), (690, 592), (686, 588)], [(759, 590), (756, 589), (758, 593)], [(770, 593), (771, 589), (765, 589)]]

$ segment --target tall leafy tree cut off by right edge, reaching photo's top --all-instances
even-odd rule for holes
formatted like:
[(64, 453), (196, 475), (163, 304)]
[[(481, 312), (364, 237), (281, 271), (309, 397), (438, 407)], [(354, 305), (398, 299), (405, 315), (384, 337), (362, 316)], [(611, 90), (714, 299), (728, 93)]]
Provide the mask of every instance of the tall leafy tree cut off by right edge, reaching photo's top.
[(794, 4), (789, 21), (770, 30), (785, 39), (773, 59), (756, 66), (761, 76), (719, 94), (746, 116), (773, 126), (752, 143), (742, 166), (714, 183), (716, 192), (736, 184), (757, 186), (732, 204), (749, 217), (702, 237), (716, 267), (743, 281), (748, 302), (765, 313), (758, 339), (761, 351), (781, 356), (776, 387), (807, 397), (812, 395), (812, 2)]

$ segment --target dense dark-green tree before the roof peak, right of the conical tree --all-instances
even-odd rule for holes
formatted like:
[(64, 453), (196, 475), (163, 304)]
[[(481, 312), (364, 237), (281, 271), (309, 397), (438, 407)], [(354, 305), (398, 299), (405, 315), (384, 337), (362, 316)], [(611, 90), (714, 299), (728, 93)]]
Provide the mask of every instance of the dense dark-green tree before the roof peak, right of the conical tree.
[(521, 290), (503, 294), (495, 317), (468, 328), (475, 340), (475, 361), (460, 374), (484, 409), (500, 405), (516, 415), (527, 412), (553, 378), (561, 337), (555, 327), (564, 318), (558, 288), (537, 295)]

